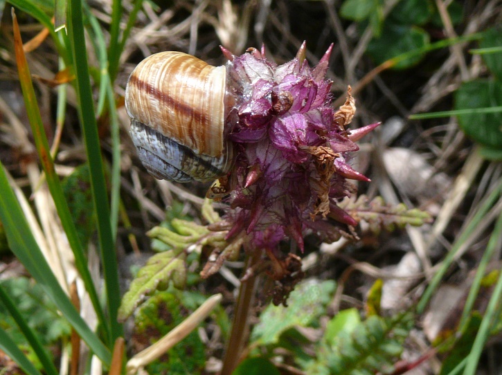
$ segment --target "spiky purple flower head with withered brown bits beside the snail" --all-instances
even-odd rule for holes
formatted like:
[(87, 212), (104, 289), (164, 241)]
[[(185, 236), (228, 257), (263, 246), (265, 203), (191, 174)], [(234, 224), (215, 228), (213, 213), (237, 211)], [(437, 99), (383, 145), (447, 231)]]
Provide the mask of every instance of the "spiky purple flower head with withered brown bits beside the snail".
[(229, 192), (227, 239), (246, 233), (251, 248), (271, 257), (286, 238), (301, 250), (306, 232), (331, 238), (328, 218), (342, 228), (356, 226), (337, 200), (353, 191), (347, 179), (369, 181), (350, 167), (348, 152), (357, 151), (355, 140), (377, 124), (346, 129), (355, 113), (350, 87), (346, 103), (331, 107), (325, 74), (332, 46), (314, 68), (305, 60), (305, 43), (282, 65), (267, 60), (265, 48), (240, 56), (222, 50), (230, 60), (228, 94), (237, 98), (228, 116), (237, 159), (220, 180)]

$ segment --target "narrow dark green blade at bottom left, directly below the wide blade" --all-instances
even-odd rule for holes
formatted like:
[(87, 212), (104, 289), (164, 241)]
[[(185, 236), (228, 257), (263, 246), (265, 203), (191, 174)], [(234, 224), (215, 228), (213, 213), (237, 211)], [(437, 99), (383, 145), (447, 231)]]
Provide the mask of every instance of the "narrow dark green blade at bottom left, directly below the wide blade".
[(59, 374), (53, 361), (51, 360), (51, 357), (47, 354), (47, 351), (44, 349), (44, 345), (42, 345), (42, 342), (40, 341), (38, 336), (30, 328), (30, 326), (28, 326), (28, 323), (26, 323), (26, 320), (23, 318), (23, 316), (17, 309), (14, 301), (12, 301), (12, 298), (9, 297), (9, 295), (6, 293), (5, 289), (3, 289), (3, 286), (1, 284), (0, 284), (0, 300), (1, 302), (3, 302), (6, 309), (9, 311), (10, 315), (12, 315), (12, 318), (14, 318), (15, 322), (17, 323), (17, 326), (24, 334), (24, 337), (30, 343), (30, 346), (33, 348), (33, 351), (35, 351), (35, 354), (37, 354), (37, 357), (40, 360), (40, 363), (42, 363), (42, 366), (44, 367), (44, 371), (46, 372), (46, 374), (48, 375)]

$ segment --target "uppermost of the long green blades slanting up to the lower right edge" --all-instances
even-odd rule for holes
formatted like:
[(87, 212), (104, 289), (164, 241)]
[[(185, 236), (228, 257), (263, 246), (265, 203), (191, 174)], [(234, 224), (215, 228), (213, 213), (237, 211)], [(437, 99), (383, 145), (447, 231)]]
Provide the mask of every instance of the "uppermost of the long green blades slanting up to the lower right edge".
[(434, 277), (431, 280), (431, 283), (429, 284), (429, 286), (427, 286), (427, 289), (424, 291), (424, 294), (422, 295), (420, 302), (418, 302), (417, 306), (418, 313), (423, 313), (425, 307), (427, 306), (427, 303), (431, 299), (432, 293), (436, 291), (436, 288), (441, 282), (442, 277), (447, 272), (449, 266), (451, 265), (451, 262), (453, 262), (453, 260), (455, 259), (455, 255), (458, 249), (463, 244), (463, 242), (469, 237), (472, 230), (476, 228), (481, 219), (485, 217), (485, 214), (493, 207), (495, 201), (499, 198), (501, 192), (502, 192), (502, 181), (500, 181), (499, 185), (496, 185), (496, 187), (494, 188), (494, 190), (492, 190), (490, 195), (487, 196), (484, 203), (479, 208), (478, 212), (476, 212), (476, 214), (472, 218), (472, 221), (466, 226), (463, 233), (456, 239), (454, 246), (451, 247), (451, 250), (449, 251), (447, 257), (445, 257), (445, 260), (443, 260), (440, 269), (438, 270), (436, 275), (434, 275)]

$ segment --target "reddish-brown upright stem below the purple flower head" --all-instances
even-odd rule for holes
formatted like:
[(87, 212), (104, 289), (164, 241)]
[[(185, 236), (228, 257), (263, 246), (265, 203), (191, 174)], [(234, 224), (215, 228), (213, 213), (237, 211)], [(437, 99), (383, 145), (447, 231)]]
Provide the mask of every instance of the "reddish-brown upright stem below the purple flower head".
[[(253, 266), (260, 260), (261, 255), (262, 251), (259, 250), (251, 252), (246, 259), (244, 272), (250, 268), (253, 269)], [(253, 305), (258, 278), (258, 275), (252, 273), (240, 284), (221, 375), (231, 375), (235, 367), (240, 363), (242, 351), (249, 337), (248, 318), (250, 308)]]

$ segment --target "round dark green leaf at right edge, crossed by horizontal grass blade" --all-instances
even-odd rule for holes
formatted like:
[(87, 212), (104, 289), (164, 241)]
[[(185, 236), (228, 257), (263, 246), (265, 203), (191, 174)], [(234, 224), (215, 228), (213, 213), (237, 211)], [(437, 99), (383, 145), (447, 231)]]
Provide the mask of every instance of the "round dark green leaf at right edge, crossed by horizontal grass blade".
[[(502, 82), (465, 82), (455, 93), (455, 109), (478, 109), (502, 105)], [(458, 116), (460, 128), (477, 143), (502, 148), (502, 112), (466, 113)]]

